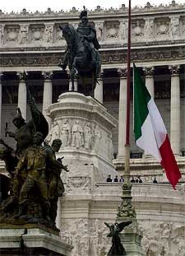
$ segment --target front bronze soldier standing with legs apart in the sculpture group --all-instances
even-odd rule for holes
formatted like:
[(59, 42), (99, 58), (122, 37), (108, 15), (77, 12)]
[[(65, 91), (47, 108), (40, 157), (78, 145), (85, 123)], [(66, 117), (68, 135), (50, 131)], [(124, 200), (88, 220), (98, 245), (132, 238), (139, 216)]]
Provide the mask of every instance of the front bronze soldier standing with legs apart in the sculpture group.
[(16, 167), (16, 176), (22, 169), (27, 171), (27, 177), (22, 185), (19, 196), (19, 213), (17, 217), (25, 216), (27, 214), (27, 206), (29, 202), (29, 194), (37, 191), (39, 194), (40, 206), (42, 209), (42, 216), (46, 221), (50, 222), (49, 210), (50, 202), (48, 198), (48, 187), (46, 180), (46, 164), (50, 164), (53, 168), (62, 168), (62, 165), (53, 159), (53, 156), (42, 146), (44, 136), (41, 132), (36, 132), (33, 137), (33, 145), (29, 146), (25, 151), (25, 155), (20, 159)]

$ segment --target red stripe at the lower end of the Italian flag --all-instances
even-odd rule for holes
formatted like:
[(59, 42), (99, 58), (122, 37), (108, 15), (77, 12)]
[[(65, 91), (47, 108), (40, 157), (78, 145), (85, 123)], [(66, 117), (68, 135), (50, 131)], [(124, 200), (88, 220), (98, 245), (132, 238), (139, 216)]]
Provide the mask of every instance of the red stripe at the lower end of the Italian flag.
[(166, 176), (169, 182), (172, 184), (173, 188), (177, 185), (179, 179), (181, 179), (181, 172), (179, 171), (179, 167), (177, 166), (176, 159), (171, 149), (170, 141), (168, 138), (168, 134), (160, 146), (160, 154), (162, 161), (160, 162), (163, 166)]

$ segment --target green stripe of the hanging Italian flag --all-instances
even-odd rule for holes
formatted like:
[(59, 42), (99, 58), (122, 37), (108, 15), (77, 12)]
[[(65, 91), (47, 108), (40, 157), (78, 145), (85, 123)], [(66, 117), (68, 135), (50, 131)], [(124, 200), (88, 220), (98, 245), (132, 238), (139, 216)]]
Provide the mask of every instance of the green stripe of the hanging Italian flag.
[(151, 99), (147, 87), (139, 74), (139, 70), (134, 64), (134, 133), (135, 141), (142, 135), (142, 125), (147, 118), (147, 103)]

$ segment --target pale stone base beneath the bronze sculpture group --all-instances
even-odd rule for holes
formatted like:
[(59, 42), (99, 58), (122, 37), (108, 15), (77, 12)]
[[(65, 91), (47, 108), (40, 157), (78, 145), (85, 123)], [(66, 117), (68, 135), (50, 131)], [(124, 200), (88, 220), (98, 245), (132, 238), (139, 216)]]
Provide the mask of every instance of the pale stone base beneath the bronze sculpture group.
[(70, 256), (72, 246), (41, 227), (0, 227), (0, 255)]

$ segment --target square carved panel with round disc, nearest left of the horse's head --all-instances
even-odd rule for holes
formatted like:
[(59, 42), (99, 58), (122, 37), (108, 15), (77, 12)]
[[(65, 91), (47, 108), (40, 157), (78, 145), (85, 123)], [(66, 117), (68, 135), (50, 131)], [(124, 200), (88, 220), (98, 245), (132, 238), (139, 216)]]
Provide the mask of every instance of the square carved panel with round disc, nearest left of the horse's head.
[(44, 24), (32, 24), (29, 27), (29, 35), (31, 43), (42, 42), (45, 31)]

